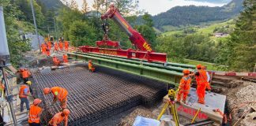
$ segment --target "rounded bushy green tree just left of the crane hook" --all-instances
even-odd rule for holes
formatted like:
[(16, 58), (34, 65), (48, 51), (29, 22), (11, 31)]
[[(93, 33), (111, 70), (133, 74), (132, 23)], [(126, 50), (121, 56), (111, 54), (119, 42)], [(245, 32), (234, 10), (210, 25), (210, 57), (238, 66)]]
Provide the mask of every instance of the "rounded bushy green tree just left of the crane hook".
[(96, 41), (96, 29), (85, 21), (75, 20), (70, 25), (69, 38), (73, 46), (92, 46)]

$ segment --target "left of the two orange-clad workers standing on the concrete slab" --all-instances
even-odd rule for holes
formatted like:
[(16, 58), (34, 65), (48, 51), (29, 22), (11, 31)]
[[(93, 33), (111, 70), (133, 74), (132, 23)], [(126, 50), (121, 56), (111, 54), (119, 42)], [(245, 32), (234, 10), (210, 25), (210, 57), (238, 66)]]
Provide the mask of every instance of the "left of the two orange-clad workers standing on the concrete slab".
[(179, 82), (177, 102), (180, 102), (181, 96), (183, 95), (183, 103), (186, 103), (186, 96), (190, 93), (191, 78), (189, 74), (190, 70), (183, 70), (183, 78)]

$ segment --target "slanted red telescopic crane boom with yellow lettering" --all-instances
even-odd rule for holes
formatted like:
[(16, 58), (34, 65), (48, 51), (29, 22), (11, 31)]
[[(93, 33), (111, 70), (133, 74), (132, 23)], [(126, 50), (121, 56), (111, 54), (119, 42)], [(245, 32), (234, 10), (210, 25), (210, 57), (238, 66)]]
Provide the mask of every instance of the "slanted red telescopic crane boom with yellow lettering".
[(138, 31), (134, 30), (134, 28), (132, 28), (130, 24), (121, 16), (119, 10), (114, 6), (114, 4), (111, 4), (107, 12), (101, 16), (102, 20), (107, 18), (111, 18), (112, 20), (114, 20), (115, 23), (118, 24), (119, 27), (122, 29), (122, 31), (126, 32), (126, 34), (129, 36), (130, 41), (139, 50), (149, 52), (153, 51), (151, 46), (145, 41), (143, 36)]

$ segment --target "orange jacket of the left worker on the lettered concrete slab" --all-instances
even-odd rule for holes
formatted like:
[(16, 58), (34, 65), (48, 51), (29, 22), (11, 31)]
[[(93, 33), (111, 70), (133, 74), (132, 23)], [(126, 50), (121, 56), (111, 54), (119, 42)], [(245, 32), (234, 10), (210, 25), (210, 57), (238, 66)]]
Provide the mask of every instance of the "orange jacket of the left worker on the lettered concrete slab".
[(184, 93), (189, 93), (190, 91), (190, 76), (183, 76), (179, 83), (179, 89), (181, 89)]

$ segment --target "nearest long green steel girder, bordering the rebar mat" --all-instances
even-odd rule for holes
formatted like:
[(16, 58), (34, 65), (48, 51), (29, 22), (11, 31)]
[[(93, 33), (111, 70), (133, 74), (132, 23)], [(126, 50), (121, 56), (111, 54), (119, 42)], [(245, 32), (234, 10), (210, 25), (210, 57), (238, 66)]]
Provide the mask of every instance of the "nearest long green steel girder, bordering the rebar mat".
[[(151, 63), (138, 64), (138, 61), (130, 59), (122, 59), (117, 57), (107, 57), (104, 55), (96, 54), (81, 54), (81, 53), (68, 53), (69, 58), (76, 60), (89, 61), (92, 60), (94, 65), (103, 66), (109, 69), (115, 69), (122, 72), (127, 72), (137, 76), (144, 76), (152, 80), (158, 80), (164, 83), (170, 83), (175, 86), (179, 85), (179, 80), (183, 76), (182, 72), (177, 72), (173, 69), (159, 68)], [(147, 65), (145, 65), (147, 64)], [(177, 69), (177, 68), (176, 68)]]

